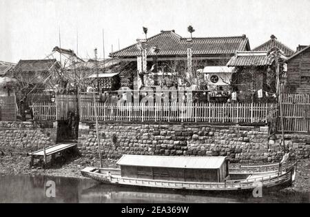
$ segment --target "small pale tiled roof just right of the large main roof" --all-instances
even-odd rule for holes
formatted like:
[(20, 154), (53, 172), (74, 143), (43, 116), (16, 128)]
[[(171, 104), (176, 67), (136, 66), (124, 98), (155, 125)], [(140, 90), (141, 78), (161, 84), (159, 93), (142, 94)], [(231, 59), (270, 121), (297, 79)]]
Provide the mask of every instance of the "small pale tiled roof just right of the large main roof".
[(236, 55), (231, 57), (227, 66), (251, 66), (251, 65), (271, 65), (267, 56), (267, 52), (264, 51), (249, 51), (249, 52), (236, 52)]

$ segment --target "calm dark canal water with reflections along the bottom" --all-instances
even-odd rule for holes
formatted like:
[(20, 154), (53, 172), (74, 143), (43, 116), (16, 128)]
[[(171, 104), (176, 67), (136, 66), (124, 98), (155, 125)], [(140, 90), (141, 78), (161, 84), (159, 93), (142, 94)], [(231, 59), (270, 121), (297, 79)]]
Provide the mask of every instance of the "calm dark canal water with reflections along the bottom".
[[(55, 184), (55, 197), (51, 182)], [(48, 186), (45, 186), (48, 185)], [(90, 179), (0, 176), (0, 203), (309, 203), (309, 194), (206, 194), (105, 185)]]

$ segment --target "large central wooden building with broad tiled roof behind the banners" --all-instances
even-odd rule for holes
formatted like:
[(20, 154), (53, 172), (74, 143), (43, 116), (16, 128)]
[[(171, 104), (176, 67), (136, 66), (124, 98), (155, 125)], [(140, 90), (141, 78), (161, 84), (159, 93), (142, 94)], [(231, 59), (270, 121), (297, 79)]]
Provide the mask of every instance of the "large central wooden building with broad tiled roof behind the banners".
[[(250, 50), (245, 34), (236, 37), (193, 37), (188, 40), (174, 30), (161, 31), (145, 41), (147, 71), (160, 73), (185, 73), (187, 70), (187, 48), (192, 48), (192, 71), (207, 65), (226, 65), (236, 51)], [(138, 43), (110, 53), (113, 58), (133, 63), (130, 70), (120, 73), (121, 85), (130, 86), (136, 76), (137, 56), (141, 56)], [(152, 67), (154, 66), (154, 68)]]

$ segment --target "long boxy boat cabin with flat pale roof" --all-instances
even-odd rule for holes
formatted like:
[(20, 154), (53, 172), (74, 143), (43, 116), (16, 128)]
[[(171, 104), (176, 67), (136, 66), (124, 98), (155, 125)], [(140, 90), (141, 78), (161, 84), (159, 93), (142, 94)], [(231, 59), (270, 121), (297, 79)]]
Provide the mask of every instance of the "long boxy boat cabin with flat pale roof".
[(123, 155), (121, 176), (153, 180), (221, 183), (229, 175), (225, 156)]

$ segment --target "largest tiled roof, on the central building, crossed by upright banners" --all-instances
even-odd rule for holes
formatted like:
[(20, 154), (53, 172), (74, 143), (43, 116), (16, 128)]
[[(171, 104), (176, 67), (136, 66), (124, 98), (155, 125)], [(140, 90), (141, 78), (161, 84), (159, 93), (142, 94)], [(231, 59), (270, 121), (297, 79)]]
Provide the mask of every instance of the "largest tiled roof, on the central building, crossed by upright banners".
[[(137, 44), (112, 52), (113, 57), (135, 57), (141, 55)], [(187, 39), (172, 31), (162, 31), (146, 41), (147, 48), (159, 48), (158, 56), (187, 55)], [(237, 50), (249, 50), (249, 40), (245, 35), (240, 37), (192, 38), (193, 55), (234, 54)], [(147, 49), (147, 56), (156, 54)]]

